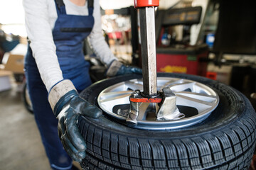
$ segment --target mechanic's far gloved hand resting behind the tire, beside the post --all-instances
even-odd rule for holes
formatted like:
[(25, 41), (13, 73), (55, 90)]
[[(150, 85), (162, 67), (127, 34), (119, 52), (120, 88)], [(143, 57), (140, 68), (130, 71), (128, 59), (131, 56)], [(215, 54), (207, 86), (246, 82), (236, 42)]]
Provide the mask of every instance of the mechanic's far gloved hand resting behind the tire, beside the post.
[(124, 66), (121, 62), (114, 60), (107, 69), (107, 77), (115, 77), (124, 74), (142, 74), (142, 69)]

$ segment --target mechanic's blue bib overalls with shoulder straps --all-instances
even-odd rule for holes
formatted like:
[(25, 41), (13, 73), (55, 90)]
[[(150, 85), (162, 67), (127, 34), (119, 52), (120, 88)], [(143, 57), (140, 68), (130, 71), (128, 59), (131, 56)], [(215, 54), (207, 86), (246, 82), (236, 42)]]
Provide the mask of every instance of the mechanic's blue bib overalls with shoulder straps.
[[(53, 40), (58, 62), (64, 79), (70, 79), (79, 92), (91, 84), (90, 64), (84, 59), (82, 45), (94, 25), (93, 0), (87, 1), (88, 16), (67, 15), (63, 0), (55, 0), (55, 4), (58, 19), (53, 28)], [(52, 169), (71, 169), (72, 159), (66, 154), (58, 138), (58, 120), (53, 115), (48, 103), (48, 91), (43, 84), (29, 46), (25, 58), (25, 69), (33, 113), (50, 166)]]

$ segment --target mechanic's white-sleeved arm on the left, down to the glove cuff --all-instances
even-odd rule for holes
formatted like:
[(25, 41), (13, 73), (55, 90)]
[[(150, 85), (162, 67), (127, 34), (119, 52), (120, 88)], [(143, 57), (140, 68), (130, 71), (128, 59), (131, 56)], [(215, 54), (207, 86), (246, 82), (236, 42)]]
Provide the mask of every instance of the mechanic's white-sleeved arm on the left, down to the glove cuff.
[(58, 58), (55, 55), (52, 28), (48, 16), (47, 1), (23, 0), (26, 30), (31, 49), (46, 89), (63, 79)]

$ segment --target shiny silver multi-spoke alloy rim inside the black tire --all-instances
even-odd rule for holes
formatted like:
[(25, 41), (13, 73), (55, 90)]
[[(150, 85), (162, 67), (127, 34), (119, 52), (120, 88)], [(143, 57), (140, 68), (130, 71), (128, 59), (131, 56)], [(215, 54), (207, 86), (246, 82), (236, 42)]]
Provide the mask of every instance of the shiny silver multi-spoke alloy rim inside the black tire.
[[(97, 103), (107, 115), (123, 122), (127, 117), (119, 115), (118, 108), (129, 108), (129, 96), (137, 89), (143, 91), (142, 83), (142, 79), (132, 79), (109, 86), (99, 94)], [(169, 87), (176, 94), (176, 105), (181, 113), (185, 112), (183, 114), (186, 117), (178, 120), (154, 120), (152, 116), (139, 115), (137, 125), (132, 126), (133, 128), (144, 130), (186, 128), (208, 118), (218, 106), (218, 94), (209, 86), (197, 81), (158, 77), (157, 84), (158, 91)]]

